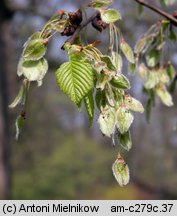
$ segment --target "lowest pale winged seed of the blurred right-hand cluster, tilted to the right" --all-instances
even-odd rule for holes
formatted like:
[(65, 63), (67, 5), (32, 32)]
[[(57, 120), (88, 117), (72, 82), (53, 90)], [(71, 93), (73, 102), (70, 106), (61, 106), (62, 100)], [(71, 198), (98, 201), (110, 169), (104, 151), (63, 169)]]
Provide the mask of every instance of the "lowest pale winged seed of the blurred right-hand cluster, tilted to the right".
[(156, 88), (156, 93), (160, 97), (161, 101), (168, 107), (173, 106), (173, 100), (170, 93), (167, 91), (165, 85), (159, 85)]

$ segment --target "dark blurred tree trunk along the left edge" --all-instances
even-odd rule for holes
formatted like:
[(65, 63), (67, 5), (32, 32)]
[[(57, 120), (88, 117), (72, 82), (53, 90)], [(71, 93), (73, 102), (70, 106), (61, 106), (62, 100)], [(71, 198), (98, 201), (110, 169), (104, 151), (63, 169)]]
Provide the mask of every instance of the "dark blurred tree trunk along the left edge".
[[(8, 70), (6, 59), (6, 24), (12, 13), (5, 1), (0, 7), (0, 199), (10, 198), (10, 141), (8, 116)], [(6, 23), (7, 22), (7, 23)]]

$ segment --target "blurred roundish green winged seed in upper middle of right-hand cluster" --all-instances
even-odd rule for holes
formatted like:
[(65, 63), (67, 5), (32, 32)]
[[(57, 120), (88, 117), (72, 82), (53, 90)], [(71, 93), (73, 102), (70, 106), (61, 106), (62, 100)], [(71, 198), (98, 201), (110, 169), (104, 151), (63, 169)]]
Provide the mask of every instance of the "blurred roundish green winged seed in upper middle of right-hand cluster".
[(157, 50), (151, 50), (146, 55), (146, 62), (149, 67), (155, 67), (160, 60), (160, 52)]

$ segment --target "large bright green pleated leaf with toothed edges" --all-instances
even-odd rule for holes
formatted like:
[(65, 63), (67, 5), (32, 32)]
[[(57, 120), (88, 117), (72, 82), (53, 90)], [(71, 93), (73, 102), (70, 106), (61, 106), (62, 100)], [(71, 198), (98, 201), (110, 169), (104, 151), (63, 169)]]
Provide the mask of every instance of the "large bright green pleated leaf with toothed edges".
[(94, 86), (92, 66), (79, 56), (70, 57), (56, 71), (56, 80), (61, 90), (78, 104)]

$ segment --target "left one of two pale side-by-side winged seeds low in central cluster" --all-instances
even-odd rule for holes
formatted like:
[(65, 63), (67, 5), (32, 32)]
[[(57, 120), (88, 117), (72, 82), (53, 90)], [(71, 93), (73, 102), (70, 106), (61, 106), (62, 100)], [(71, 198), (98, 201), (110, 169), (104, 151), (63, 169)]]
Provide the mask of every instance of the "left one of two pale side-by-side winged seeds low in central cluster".
[(101, 132), (105, 136), (111, 137), (116, 126), (115, 110), (109, 106), (103, 108), (98, 119), (98, 124), (100, 125)]

